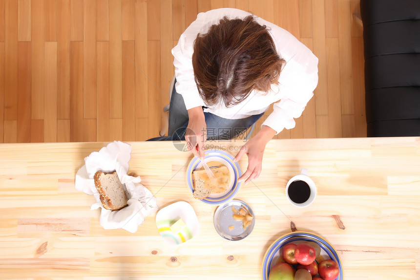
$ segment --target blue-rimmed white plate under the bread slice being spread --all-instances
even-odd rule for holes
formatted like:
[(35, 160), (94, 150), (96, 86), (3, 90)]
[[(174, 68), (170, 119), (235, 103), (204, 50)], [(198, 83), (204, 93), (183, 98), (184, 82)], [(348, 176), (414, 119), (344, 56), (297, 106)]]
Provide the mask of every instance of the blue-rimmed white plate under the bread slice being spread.
[[(241, 167), (239, 163), (233, 162), (234, 156), (227, 151), (223, 150), (207, 150), (205, 152), (204, 162), (209, 164), (210, 169), (225, 165), (230, 173), (229, 186), (226, 192), (221, 194), (210, 194), (206, 198), (200, 199), (201, 202), (209, 205), (220, 205), (224, 204), (233, 199), (238, 194), (241, 187), (241, 182), (238, 182), (238, 178), (242, 175)], [(217, 165), (212, 166), (211, 163), (217, 162)], [(187, 167), (187, 187), (191, 194), (194, 193), (194, 183), (192, 179), (192, 172), (200, 170), (202, 163), (199, 157), (195, 156), (191, 159)]]

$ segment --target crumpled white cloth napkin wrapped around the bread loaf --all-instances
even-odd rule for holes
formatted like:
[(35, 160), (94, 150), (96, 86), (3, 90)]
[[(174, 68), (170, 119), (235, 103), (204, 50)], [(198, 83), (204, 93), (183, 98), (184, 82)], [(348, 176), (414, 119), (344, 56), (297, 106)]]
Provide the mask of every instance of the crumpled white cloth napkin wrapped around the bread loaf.
[[(91, 205), (90, 210), (102, 208), (99, 222), (104, 229), (123, 228), (130, 233), (135, 233), (146, 216), (158, 210), (156, 197), (140, 184), (140, 176), (127, 175), (130, 154), (130, 145), (114, 141), (99, 152), (94, 151), (88, 157), (85, 157), (85, 165), (76, 173), (76, 189), (95, 197), (96, 202)], [(113, 172), (115, 170), (117, 172), (121, 183), (126, 186), (128, 206), (117, 211), (107, 210), (102, 206), (93, 179), (93, 176), (99, 170), (103, 172)]]

